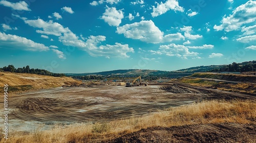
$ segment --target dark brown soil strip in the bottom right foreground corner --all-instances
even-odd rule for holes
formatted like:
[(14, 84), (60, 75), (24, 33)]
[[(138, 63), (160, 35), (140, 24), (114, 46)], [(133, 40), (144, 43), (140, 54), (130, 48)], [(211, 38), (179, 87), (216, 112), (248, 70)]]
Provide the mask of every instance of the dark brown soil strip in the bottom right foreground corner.
[(103, 142), (255, 142), (255, 124), (207, 124), (142, 129)]

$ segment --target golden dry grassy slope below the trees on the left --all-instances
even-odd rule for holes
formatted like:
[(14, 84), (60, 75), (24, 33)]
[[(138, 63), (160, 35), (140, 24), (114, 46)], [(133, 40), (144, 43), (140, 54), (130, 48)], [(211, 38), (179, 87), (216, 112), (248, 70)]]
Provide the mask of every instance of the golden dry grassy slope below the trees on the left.
[(22, 92), (31, 89), (48, 89), (62, 85), (80, 84), (81, 82), (69, 77), (1, 72), (0, 83), (2, 84), (0, 87), (4, 87), (4, 84), (8, 84), (9, 92)]

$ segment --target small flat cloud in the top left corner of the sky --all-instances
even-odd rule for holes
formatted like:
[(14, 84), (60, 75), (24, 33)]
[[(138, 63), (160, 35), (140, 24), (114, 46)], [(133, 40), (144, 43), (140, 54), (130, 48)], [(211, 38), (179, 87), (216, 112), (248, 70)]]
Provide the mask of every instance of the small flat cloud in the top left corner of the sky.
[(20, 1), (17, 3), (11, 3), (5, 0), (0, 1), (0, 5), (4, 5), (5, 7), (10, 7), (14, 10), (25, 10), (25, 11), (31, 11), (29, 9), (29, 5), (25, 1)]

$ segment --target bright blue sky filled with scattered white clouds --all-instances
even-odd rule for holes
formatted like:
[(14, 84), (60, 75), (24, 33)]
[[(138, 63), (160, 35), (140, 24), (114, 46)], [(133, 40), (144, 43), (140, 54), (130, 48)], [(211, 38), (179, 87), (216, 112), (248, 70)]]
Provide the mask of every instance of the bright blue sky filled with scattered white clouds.
[(54, 73), (256, 60), (256, 1), (0, 1), (0, 66)]

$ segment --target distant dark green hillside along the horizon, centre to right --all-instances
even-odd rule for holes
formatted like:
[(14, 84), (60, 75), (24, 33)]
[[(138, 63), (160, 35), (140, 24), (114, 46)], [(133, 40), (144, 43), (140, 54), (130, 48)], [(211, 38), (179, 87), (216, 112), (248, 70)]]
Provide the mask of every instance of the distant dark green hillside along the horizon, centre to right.
[[(207, 66), (196, 66), (175, 71), (163, 71), (163, 70), (150, 70), (150, 69), (119, 69), (111, 71), (102, 71), (98, 73), (83, 73), (83, 74), (65, 74), (68, 77), (74, 77), (78, 79), (104, 79), (109, 77), (120, 77), (129, 78), (142, 76), (143, 78), (158, 77), (158, 78), (181, 78), (189, 76), (199, 72), (223, 72), (223, 71), (234, 71), (234, 72), (245, 72), (255, 71), (256, 61), (235, 63), (228, 65), (207, 65)], [(85, 78), (86, 77), (86, 78)]]

